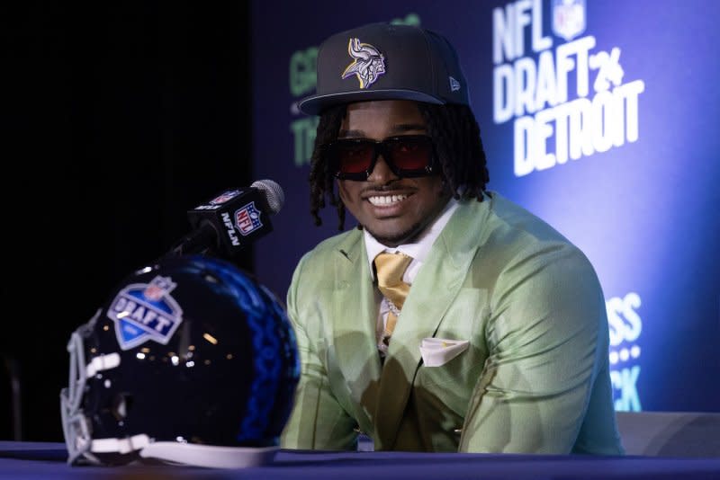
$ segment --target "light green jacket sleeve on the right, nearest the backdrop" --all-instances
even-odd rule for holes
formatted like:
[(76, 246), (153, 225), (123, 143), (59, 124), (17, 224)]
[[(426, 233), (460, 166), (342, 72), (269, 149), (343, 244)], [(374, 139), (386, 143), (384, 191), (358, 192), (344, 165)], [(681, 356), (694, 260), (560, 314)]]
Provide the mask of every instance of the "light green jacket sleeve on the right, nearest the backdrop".
[(460, 451), (567, 454), (608, 359), (599, 280), (572, 245), (518, 254), (491, 295), (489, 357)]

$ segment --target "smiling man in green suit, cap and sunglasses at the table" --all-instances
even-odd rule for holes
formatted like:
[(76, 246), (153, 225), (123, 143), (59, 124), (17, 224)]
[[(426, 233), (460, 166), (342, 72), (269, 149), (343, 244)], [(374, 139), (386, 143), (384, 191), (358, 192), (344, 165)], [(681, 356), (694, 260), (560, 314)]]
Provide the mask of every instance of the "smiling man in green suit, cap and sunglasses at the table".
[(311, 212), (328, 200), (359, 225), (293, 275), (285, 448), (355, 449), (365, 432), (375, 449), (622, 453), (595, 271), (485, 190), (467, 87), (431, 31), (374, 23), (321, 45), (300, 103), (320, 114)]

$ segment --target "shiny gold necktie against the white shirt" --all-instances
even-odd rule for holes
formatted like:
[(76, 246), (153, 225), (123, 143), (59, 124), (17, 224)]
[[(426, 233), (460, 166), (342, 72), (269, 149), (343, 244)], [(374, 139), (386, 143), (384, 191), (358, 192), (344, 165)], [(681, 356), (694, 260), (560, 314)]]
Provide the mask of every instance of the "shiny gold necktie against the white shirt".
[(412, 257), (404, 253), (380, 253), (375, 257), (375, 271), (377, 273), (377, 288), (387, 300), (390, 312), (385, 322), (383, 343), (388, 345), (398, 316), (410, 291), (410, 285), (402, 281), (402, 274), (408, 268)]

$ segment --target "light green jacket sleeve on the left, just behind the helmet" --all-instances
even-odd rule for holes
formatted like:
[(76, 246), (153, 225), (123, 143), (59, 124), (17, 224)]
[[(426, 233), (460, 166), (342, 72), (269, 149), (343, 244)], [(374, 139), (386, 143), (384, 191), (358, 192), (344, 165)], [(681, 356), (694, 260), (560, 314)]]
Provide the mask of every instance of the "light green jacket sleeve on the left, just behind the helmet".
[[(356, 422), (332, 393), (326, 366), (321, 359), (320, 313), (315, 301), (312, 273), (303, 275), (310, 254), (306, 254), (293, 273), (287, 296), (288, 316), (293, 322), (301, 360), (293, 412), (285, 425), (280, 444), (284, 449), (356, 449)], [(307, 269), (311, 270), (311, 269)]]

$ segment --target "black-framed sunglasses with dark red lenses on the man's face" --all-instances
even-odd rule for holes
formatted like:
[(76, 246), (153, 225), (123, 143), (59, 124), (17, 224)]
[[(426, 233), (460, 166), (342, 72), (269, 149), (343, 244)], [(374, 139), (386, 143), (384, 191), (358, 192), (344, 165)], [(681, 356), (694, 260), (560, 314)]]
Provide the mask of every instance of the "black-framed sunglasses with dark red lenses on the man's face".
[(367, 180), (377, 157), (383, 156), (399, 177), (432, 175), (437, 170), (435, 147), (427, 135), (385, 138), (342, 138), (324, 147), (330, 171), (340, 180)]

